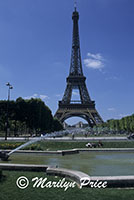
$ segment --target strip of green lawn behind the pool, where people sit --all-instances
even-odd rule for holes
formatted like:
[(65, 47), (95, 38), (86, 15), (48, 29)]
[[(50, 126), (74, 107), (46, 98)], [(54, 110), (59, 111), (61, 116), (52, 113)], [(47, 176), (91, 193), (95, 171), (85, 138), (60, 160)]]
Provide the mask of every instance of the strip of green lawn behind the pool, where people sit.
[[(97, 142), (93, 142), (97, 143)], [(103, 148), (134, 148), (134, 141), (105, 141)], [(0, 149), (15, 149), (24, 144), (24, 142), (0, 142)], [(25, 147), (25, 150), (66, 150), (75, 148), (86, 148), (87, 142), (76, 141), (40, 141)]]

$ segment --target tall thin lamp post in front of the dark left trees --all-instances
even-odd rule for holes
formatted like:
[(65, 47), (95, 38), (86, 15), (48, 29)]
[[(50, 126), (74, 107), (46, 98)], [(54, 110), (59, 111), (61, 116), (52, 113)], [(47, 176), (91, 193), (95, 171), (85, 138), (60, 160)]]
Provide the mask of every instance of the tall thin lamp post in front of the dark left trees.
[(9, 130), (9, 123), (8, 123), (8, 112), (9, 112), (9, 101), (10, 101), (10, 90), (13, 89), (13, 86), (8, 82), (6, 84), (8, 86), (8, 100), (7, 100), (7, 113), (6, 113), (6, 133), (5, 133), (5, 140), (7, 140), (7, 134)]

